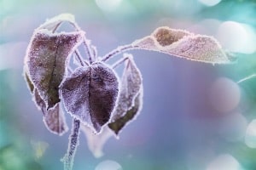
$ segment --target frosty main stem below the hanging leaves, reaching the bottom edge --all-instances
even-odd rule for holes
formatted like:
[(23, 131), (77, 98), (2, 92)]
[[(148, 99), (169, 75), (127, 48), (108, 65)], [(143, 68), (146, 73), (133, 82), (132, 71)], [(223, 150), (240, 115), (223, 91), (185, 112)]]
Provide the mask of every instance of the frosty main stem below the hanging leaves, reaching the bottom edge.
[(64, 170), (73, 169), (74, 156), (75, 156), (77, 147), (79, 146), (79, 132), (80, 132), (80, 121), (74, 118), (72, 132), (69, 136), (67, 153), (61, 160), (64, 163)]

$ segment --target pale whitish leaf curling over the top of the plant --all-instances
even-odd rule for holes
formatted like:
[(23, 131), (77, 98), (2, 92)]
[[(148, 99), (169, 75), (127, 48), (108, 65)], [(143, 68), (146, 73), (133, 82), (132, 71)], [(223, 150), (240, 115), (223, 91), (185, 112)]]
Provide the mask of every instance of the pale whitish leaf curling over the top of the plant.
[(49, 31), (55, 31), (55, 29), (61, 25), (61, 22), (68, 21), (75, 23), (73, 14), (59, 14), (49, 20), (46, 20), (43, 25), (39, 26), (38, 29), (47, 29)]

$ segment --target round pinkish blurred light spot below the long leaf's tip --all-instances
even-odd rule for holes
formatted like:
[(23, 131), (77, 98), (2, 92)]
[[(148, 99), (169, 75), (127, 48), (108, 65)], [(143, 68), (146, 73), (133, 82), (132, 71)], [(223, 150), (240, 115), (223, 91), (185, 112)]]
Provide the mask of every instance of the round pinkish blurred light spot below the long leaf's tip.
[(210, 89), (211, 105), (221, 113), (235, 109), (240, 102), (240, 96), (240, 89), (236, 82), (225, 77), (218, 78)]

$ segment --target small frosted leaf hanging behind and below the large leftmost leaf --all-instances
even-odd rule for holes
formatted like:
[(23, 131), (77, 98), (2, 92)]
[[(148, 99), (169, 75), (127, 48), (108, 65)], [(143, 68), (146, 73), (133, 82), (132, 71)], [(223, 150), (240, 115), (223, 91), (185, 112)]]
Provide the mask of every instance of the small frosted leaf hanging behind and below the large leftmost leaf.
[(50, 110), (46, 109), (44, 100), (38, 94), (38, 90), (34, 90), (34, 100), (38, 105), (38, 108), (43, 112), (44, 124), (51, 133), (62, 135), (67, 132), (67, 123), (61, 105), (58, 103), (55, 107)]

